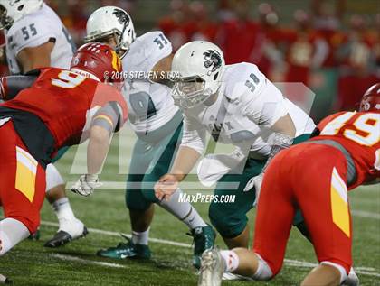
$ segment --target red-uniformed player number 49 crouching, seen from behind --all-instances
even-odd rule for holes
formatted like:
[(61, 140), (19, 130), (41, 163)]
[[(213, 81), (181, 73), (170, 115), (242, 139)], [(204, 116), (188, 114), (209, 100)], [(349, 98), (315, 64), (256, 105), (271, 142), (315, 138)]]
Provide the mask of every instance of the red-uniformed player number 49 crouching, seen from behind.
[(253, 249), (204, 252), (198, 285), (220, 285), (223, 272), (259, 281), (273, 278), (283, 263), (295, 206), (302, 211), (319, 262), (301, 285), (345, 282), (352, 266), (347, 190), (379, 178), (380, 83), (366, 91), (359, 112), (328, 116), (315, 137), (271, 161), (262, 183)]

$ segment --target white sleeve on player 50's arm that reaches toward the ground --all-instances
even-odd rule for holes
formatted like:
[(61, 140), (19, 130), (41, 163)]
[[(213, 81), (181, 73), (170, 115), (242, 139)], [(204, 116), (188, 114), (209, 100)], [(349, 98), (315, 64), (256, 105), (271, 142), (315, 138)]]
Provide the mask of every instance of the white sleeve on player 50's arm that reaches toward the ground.
[(197, 123), (195, 119), (185, 116), (181, 146), (190, 147), (202, 154), (204, 152), (205, 137), (204, 127)]

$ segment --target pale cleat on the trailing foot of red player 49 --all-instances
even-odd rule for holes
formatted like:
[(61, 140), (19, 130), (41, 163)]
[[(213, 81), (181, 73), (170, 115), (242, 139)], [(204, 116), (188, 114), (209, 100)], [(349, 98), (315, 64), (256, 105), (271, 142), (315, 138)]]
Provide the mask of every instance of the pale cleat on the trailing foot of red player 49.
[(225, 263), (217, 248), (208, 249), (202, 254), (198, 286), (220, 286)]

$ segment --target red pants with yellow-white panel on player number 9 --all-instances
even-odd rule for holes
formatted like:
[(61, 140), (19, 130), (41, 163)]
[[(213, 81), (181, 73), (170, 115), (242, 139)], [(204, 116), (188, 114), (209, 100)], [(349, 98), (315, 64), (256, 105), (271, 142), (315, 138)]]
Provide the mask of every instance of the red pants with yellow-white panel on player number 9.
[(0, 126), (0, 201), (5, 217), (24, 224), (31, 234), (40, 225), (45, 171), (27, 152), (11, 121)]

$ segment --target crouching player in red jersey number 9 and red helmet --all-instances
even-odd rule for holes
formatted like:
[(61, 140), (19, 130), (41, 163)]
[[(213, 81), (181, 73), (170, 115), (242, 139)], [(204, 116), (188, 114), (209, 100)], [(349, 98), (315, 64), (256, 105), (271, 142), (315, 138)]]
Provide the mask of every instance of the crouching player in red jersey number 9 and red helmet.
[(40, 224), (45, 194), (45, 167), (63, 146), (90, 138), (88, 174), (73, 190), (88, 195), (99, 185), (97, 173), (108, 152), (110, 135), (127, 120), (119, 91), (105, 85), (105, 71), (119, 72), (118, 55), (107, 45), (82, 46), (71, 70), (39, 69), (38, 76), (5, 78), (0, 104), (0, 255)]

